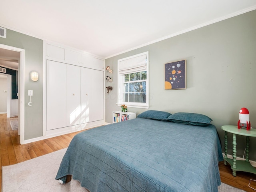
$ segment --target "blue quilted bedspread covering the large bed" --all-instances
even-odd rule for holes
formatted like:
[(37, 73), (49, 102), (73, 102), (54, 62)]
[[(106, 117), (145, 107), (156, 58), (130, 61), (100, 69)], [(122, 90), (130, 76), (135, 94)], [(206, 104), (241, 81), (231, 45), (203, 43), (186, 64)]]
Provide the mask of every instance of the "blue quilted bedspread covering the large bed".
[(56, 179), (90, 192), (218, 192), (220, 160), (215, 126), (136, 118), (77, 134)]

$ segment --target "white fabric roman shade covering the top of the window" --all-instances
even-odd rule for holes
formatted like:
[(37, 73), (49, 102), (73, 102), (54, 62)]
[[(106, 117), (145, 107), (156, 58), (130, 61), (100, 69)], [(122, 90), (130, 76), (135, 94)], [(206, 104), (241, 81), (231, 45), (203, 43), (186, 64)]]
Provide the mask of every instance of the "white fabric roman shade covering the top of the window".
[(118, 60), (118, 62), (119, 62), (118, 72), (121, 75), (146, 70), (147, 69), (147, 52)]

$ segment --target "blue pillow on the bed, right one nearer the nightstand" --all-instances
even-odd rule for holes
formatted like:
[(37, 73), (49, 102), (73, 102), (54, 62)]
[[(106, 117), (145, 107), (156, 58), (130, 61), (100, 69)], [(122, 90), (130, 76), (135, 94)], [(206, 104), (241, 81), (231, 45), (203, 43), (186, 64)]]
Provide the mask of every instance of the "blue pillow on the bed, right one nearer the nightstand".
[(167, 118), (168, 121), (186, 125), (208, 126), (212, 119), (197, 113), (174, 113)]

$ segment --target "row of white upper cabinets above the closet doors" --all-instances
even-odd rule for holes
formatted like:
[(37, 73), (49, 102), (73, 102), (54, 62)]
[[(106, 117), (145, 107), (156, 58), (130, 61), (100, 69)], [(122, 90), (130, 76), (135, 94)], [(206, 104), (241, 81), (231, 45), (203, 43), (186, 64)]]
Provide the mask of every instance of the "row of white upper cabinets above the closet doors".
[(70, 50), (61, 46), (46, 43), (46, 60), (54, 60), (67, 64), (104, 71), (103, 59), (90, 54)]

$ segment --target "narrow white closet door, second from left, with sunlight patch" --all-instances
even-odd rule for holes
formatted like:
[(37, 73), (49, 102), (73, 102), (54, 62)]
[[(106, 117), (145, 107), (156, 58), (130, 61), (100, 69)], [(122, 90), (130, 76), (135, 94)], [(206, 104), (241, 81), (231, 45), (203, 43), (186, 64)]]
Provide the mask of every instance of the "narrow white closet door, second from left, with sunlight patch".
[(80, 124), (80, 67), (66, 65), (66, 126)]

